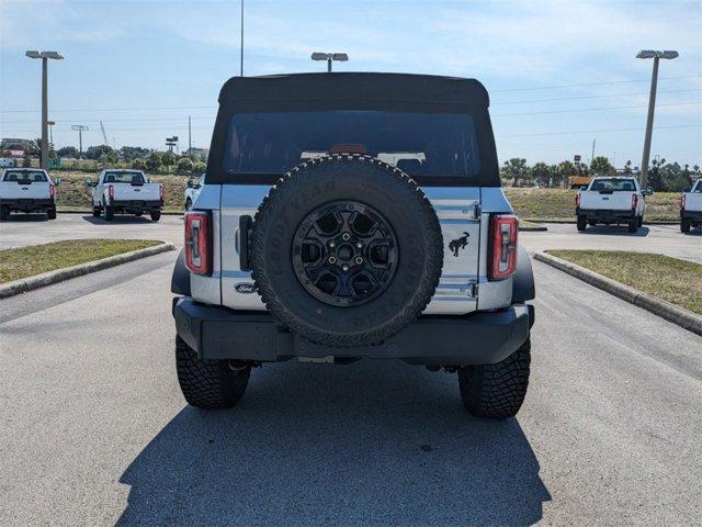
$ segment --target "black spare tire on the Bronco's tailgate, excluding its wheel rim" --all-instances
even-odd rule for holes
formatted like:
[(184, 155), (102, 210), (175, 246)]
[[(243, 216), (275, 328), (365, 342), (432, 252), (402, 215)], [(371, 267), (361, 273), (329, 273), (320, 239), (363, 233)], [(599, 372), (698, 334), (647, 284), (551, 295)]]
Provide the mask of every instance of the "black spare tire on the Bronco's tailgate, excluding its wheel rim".
[[(315, 298), (298, 280), (291, 254), (305, 217), (343, 201), (382, 214), (405, 255), (386, 289), (360, 305), (330, 305)], [(293, 332), (328, 346), (373, 345), (403, 329), (431, 300), (443, 266), (441, 226), (417, 182), (362, 155), (313, 159), (283, 176), (256, 214), (251, 242), (253, 279), (267, 309)]]

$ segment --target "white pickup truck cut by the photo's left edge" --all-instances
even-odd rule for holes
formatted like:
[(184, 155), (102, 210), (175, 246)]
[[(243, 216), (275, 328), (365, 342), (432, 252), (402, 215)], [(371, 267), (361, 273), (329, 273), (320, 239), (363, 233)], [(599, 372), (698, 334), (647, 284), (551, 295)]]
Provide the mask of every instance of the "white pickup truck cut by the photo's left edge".
[(46, 170), (37, 168), (9, 168), (0, 177), (0, 220), (12, 212), (45, 212), (56, 220), (56, 186)]

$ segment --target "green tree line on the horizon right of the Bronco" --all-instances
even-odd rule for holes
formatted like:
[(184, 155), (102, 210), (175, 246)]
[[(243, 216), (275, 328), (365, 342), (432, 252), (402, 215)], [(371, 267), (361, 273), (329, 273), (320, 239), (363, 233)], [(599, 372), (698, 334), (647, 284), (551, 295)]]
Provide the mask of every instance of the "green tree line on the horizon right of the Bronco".
[[(634, 176), (638, 177), (638, 168), (629, 160), (623, 169), (618, 170), (604, 156), (595, 157), (589, 165), (569, 160), (556, 165), (536, 162), (526, 164), (526, 159), (512, 158), (500, 167), (502, 183), (511, 187), (567, 188), (574, 176)], [(648, 169), (647, 186), (657, 192), (680, 192), (692, 186), (700, 178), (700, 167), (668, 162), (666, 159), (654, 159)]]

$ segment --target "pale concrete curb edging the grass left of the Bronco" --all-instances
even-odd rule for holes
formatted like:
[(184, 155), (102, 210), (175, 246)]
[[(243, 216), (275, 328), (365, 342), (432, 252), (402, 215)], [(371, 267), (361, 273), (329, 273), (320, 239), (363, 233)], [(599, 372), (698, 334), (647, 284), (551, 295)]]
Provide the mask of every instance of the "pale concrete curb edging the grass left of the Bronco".
[(110, 267), (121, 266), (128, 261), (138, 260), (140, 258), (146, 258), (147, 256), (154, 256), (173, 249), (173, 244), (155, 245), (154, 247), (132, 250), (129, 253), (110, 256), (101, 260), (88, 261), (86, 264), (79, 264), (78, 266), (56, 269), (55, 271), (43, 272), (42, 274), (14, 280), (12, 282), (0, 284), (0, 299), (26, 293), (27, 291), (45, 288), (46, 285), (63, 282), (64, 280), (81, 277), (90, 272), (101, 271)]

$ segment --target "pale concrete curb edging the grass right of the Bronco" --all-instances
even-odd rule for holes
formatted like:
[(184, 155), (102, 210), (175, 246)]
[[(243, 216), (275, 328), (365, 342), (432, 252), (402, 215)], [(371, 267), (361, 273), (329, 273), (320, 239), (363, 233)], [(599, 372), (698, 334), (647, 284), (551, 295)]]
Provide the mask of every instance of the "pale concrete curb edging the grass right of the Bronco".
[(534, 259), (547, 264), (556, 269), (566, 272), (584, 282), (595, 285), (602, 291), (607, 291), (626, 302), (642, 307), (650, 313), (658, 315), (666, 321), (672, 322), (692, 333), (702, 335), (702, 316), (691, 311), (678, 307), (677, 305), (657, 299), (647, 293), (642, 293), (637, 289), (624, 285), (615, 280), (603, 277), (597, 272), (590, 271), (584, 267), (577, 266), (562, 258), (557, 258), (546, 253), (534, 254)]

